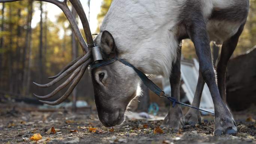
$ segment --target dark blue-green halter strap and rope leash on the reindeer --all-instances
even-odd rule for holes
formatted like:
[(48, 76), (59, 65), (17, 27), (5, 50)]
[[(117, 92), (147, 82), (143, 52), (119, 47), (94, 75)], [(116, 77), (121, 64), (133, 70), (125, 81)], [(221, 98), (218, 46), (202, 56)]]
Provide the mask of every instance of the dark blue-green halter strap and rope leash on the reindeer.
[(90, 68), (93, 69), (93, 68), (97, 68), (97, 67), (106, 66), (106, 65), (112, 64), (115, 61), (122, 62), (123, 64), (131, 67), (138, 74), (138, 76), (140, 77), (140, 79), (144, 83), (144, 85), (146, 85), (147, 88), (150, 89), (150, 91), (152, 91), (153, 93), (158, 95), (160, 98), (167, 98), (169, 101), (173, 102), (172, 107), (175, 107), (176, 104), (180, 104), (180, 105), (184, 105), (186, 107), (194, 108), (196, 110), (200, 110), (200, 111), (204, 111), (204, 112), (207, 112), (207, 113), (214, 114), (214, 112), (212, 112), (212, 111), (207, 111), (207, 110), (204, 110), (204, 109), (201, 109), (201, 108), (193, 107), (192, 105), (188, 105), (188, 104), (185, 104), (183, 102), (179, 102), (175, 98), (165, 95), (164, 91), (162, 91), (162, 89), (159, 88), (159, 86), (157, 86), (154, 82), (152, 82), (152, 80), (150, 80), (143, 72), (141, 72), (140, 70), (135, 68), (132, 64), (125, 61), (124, 59), (115, 57), (113, 59), (110, 59), (109, 61), (102, 61), (100, 63), (95, 63), (95, 64), (91, 65)]

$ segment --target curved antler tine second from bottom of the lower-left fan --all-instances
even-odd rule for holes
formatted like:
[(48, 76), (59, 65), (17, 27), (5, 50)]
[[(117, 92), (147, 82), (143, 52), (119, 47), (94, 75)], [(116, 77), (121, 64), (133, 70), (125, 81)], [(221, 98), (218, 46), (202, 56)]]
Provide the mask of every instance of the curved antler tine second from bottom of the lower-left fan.
[(67, 86), (77, 76), (77, 74), (80, 72), (81, 68), (82, 68), (82, 66), (79, 66), (64, 83), (62, 83), (60, 86), (58, 86), (58, 88), (56, 88), (50, 94), (45, 95), (45, 96), (39, 96), (39, 95), (34, 94), (34, 96), (39, 99), (51, 98), (52, 96), (57, 94), (61, 89), (65, 88), (65, 86)]

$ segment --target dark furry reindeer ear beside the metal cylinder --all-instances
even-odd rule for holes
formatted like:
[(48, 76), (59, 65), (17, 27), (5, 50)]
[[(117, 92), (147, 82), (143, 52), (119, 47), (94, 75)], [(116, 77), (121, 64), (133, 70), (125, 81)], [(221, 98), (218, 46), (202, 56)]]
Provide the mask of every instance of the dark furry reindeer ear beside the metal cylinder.
[(101, 49), (107, 55), (116, 55), (115, 40), (113, 36), (109, 33), (109, 31), (103, 31), (101, 35)]

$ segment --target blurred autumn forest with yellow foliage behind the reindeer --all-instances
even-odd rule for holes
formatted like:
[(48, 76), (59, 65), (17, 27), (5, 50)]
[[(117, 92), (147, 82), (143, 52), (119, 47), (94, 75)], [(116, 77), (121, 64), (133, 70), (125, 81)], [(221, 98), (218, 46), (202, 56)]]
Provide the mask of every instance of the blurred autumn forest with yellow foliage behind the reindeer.
[[(97, 16), (98, 28), (92, 33), (98, 33), (111, 2), (102, 1), (101, 12)], [(256, 0), (250, 3), (247, 24), (233, 57), (256, 45)], [(40, 22), (32, 28), (35, 9), (40, 10)], [(57, 74), (81, 53), (65, 15), (60, 13), (56, 16), (57, 22), (52, 22), (47, 17), (48, 13), (51, 13), (51, 9), (46, 7), (45, 2), (16, 1), (0, 4), (0, 94), (30, 98), (33, 93), (48, 94), (56, 87), (42, 89), (32, 82), (49, 82), (48, 76)], [(73, 14), (76, 15), (74, 10)], [(61, 30), (63, 34), (60, 34)], [(82, 30), (81, 33), (84, 34)], [(190, 40), (184, 40), (182, 54), (187, 59), (196, 58)], [(92, 89), (91, 78), (86, 72), (72, 95), (92, 102)], [(57, 97), (64, 92), (61, 91)]]

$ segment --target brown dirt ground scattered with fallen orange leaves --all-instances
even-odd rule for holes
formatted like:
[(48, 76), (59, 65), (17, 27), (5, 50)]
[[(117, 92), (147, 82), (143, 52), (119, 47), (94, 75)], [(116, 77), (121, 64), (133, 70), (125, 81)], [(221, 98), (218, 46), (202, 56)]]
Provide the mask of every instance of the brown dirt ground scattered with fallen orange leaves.
[[(96, 110), (89, 108), (72, 113), (64, 109), (39, 110), (22, 103), (0, 103), (0, 144), (256, 144), (256, 108), (236, 112), (234, 117), (236, 135), (214, 136), (213, 116), (205, 116), (201, 125), (186, 125), (179, 132), (157, 128), (161, 120), (133, 119), (105, 128)], [(30, 140), (37, 133), (42, 139)]]

